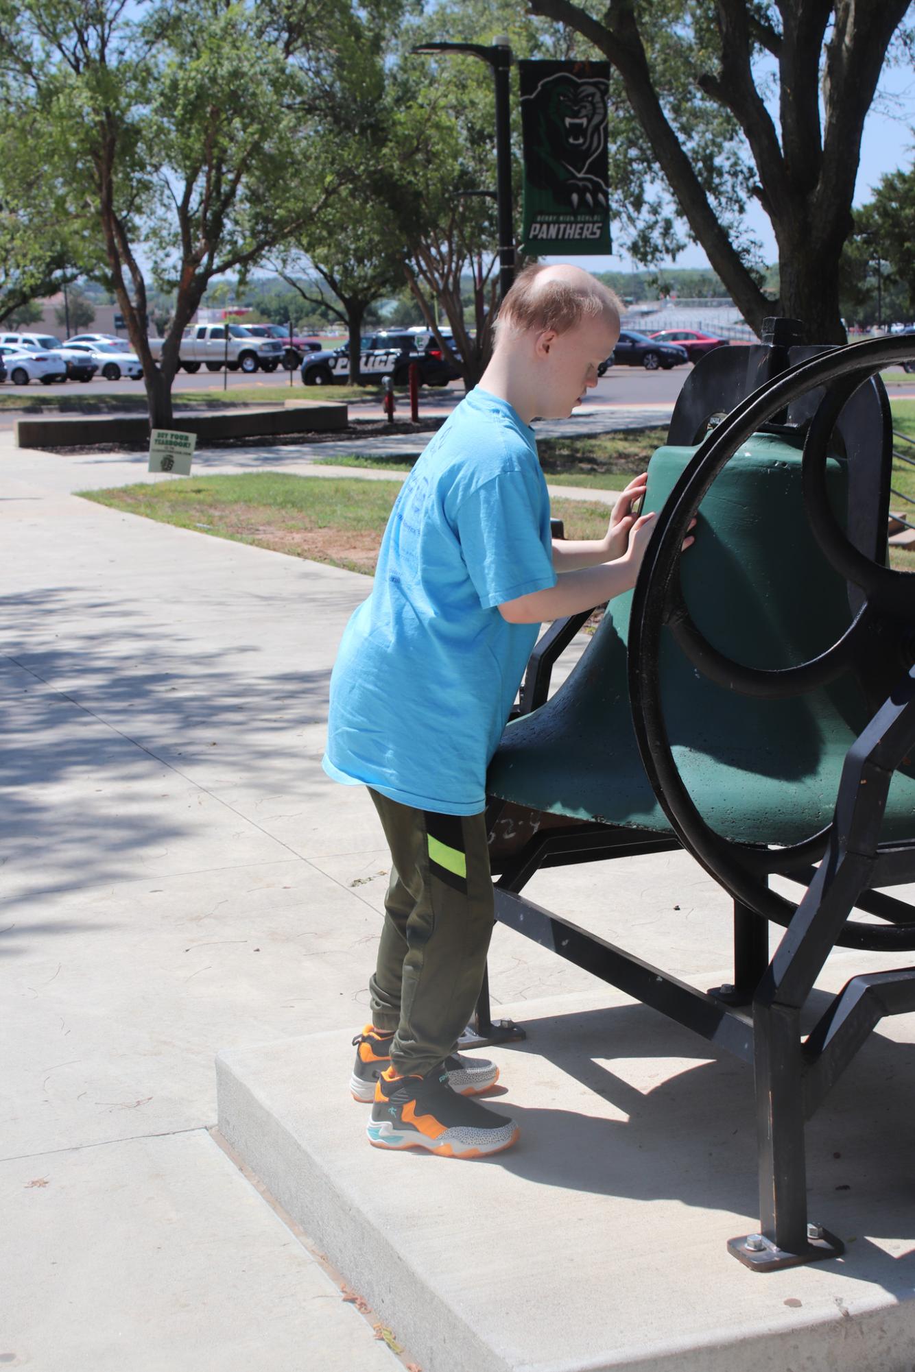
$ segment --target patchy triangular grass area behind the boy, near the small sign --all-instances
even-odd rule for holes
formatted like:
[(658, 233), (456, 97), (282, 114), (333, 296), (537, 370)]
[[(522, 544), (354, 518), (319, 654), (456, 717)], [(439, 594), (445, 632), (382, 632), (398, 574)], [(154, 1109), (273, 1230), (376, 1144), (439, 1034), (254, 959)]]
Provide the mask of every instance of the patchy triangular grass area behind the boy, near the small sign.
[[(81, 491), (86, 499), (165, 524), (255, 543), (277, 553), (372, 575), (399, 482), (333, 480), (254, 472), (182, 477)], [(567, 538), (602, 538), (609, 510), (586, 501), (554, 501)]]

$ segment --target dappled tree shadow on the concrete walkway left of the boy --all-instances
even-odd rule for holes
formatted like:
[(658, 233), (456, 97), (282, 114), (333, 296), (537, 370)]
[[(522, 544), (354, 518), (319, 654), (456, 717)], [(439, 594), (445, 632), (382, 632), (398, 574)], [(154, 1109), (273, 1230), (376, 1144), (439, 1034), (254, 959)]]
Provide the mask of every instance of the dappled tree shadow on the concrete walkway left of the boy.
[[(115, 597), (67, 587), (16, 597), (18, 642), (5, 635), (0, 671), (0, 927), (38, 890), (155, 875), (166, 858), (171, 870), (199, 870), (248, 852), (292, 856), (244, 815), (214, 825), (214, 807), (237, 783), (295, 794), (300, 735), (325, 719), (329, 668), (299, 668), (299, 650), (270, 671), (276, 648), (265, 654), (243, 624), (215, 654), (211, 634), (195, 643), (193, 622), (169, 623), (167, 604), (156, 623)], [(309, 589), (313, 613), (322, 600), (339, 605), (339, 589)], [(246, 594), (246, 615), (258, 605)], [(224, 598), (213, 613), (225, 617)]]

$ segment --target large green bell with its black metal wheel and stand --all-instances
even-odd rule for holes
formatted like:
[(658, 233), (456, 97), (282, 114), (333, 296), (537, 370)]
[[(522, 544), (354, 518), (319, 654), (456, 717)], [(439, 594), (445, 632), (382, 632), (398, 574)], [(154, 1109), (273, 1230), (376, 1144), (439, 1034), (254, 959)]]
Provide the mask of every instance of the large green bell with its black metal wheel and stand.
[[(635, 591), (549, 700), (586, 616), (542, 639), (487, 786), (498, 919), (753, 1063), (760, 1232), (728, 1247), (759, 1270), (841, 1253), (808, 1222), (804, 1121), (882, 1015), (915, 1010), (915, 969), (863, 973), (800, 1028), (834, 945), (915, 949), (915, 906), (878, 889), (915, 881), (915, 578), (885, 565), (877, 375), (915, 350), (803, 347), (797, 328), (694, 369), (649, 464)], [(734, 899), (734, 982), (708, 993), (521, 895), (539, 867), (676, 847)], [(477, 1021), (499, 1034), (487, 986)]]

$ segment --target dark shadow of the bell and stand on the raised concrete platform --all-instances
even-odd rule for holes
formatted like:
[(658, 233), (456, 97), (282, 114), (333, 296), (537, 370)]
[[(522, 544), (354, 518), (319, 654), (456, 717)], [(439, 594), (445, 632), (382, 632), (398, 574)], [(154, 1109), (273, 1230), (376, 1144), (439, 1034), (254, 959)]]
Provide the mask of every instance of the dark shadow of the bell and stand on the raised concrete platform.
[[(813, 1010), (829, 999), (815, 992)], [(521, 1144), (492, 1158), (491, 1166), (569, 1191), (757, 1214), (749, 1065), (638, 1004), (556, 1015), (525, 1028), (528, 1040), (513, 1051), (549, 1059), (613, 1106), (619, 1118), (587, 1114), (584, 1092), (580, 1113), (512, 1104)], [(693, 1065), (671, 1076), (672, 1059)], [(510, 1091), (510, 1063), (502, 1080)], [(912, 1232), (914, 1087), (915, 1044), (878, 1030), (807, 1126), (811, 1218), (846, 1243), (845, 1255), (829, 1269), (877, 1281), (900, 1299), (911, 1298), (915, 1287), (915, 1249), (892, 1257), (871, 1239)], [(494, 1106), (506, 1109), (503, 1102)]]

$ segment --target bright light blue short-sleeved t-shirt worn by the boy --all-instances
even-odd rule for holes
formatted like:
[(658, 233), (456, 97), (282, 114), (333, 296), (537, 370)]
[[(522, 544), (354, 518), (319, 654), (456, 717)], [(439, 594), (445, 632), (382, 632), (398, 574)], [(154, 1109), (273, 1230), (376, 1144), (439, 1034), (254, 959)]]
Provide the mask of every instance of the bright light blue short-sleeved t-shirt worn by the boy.
[(556, 586), (534, 431), (479, 387), (428, 445), (388, 520), (372, 595), (331, 678), (324, 770), (449, 815), (486, 805), (538, 624), (503, 601)]

